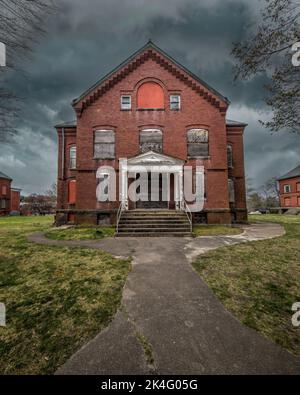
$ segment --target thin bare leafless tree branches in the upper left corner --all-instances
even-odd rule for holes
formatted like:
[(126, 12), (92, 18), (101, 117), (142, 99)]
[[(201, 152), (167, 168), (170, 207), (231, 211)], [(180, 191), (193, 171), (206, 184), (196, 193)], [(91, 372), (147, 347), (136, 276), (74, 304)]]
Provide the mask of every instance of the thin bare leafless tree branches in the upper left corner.
[(30, 54), (44, 33), (45, 16), (55, 10), (55, 0), (0, 0), (0, 41), (6, 46), (7, 59), (6, 66), (0, 67), (0, 141), (15, 133), (20, 108), (14, 92), (3, 88), (1, 77)]

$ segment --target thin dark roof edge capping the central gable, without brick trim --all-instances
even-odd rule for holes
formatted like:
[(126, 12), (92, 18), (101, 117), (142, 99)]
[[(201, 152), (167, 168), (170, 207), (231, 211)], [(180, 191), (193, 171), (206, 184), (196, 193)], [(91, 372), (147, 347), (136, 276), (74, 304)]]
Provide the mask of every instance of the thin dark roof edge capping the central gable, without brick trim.
[(104, 77), (102, 77), (100, 80), (98, 80), (94, 85), (92, 85), (90, 88), (88, 88), (85, 92), (83, 92), (78, 98), (74, 99), (72, 101), (72, 106), (75, 106), (78, 104), (82, 99), (84, 99), (89, 93), (91, 93), (94, 89), (97, 88), (100, 84), (102, 84), (105, 80), (107, 80), (110, 76), (112, 76), (114, 73), (116, 73), (118, 70), (122, 69), (127, 63), (129, 63), (131, 60), (133, 60), (137, 55), (142, 53), (148, 48), (153, 48), (157, 52), (160, 52), (164, 57), (168, 58), (171, 62), (173, 62), (177, 67), (181, 68), (183, 71), (185, 71), (187, 74), (189, 74), (192, 78), (197, 80), (201, 85), (203, 85), (206, 89), (214, 93), (216, 96), (218, 96), (221, 100), (225, 101), (228, 105), (230, 104), (230, 100), (223, 96), (221, 93), (216, 91), (214, 88), (212, 88), (209, 84), (204, 82), (200, 77), (198, 77), (196, 74), (192, 73), (190, 70), (188, 70), (185, 66), (183, 66), (181, 63), (179, 63), (177, 60), (172, 58), (172, 56), (168, 55), (164, 50), (159, 48), (157, 45), (155, 45), (151, 40), (147, 42), (142, 48), (137, 50), (136, 52), (133, 53), (133, 55), (129, 56), (126, 60), (124, 60), (122, 63), (119, 64), (119, 66), (115, 67), (112, 71), (107, 73)]

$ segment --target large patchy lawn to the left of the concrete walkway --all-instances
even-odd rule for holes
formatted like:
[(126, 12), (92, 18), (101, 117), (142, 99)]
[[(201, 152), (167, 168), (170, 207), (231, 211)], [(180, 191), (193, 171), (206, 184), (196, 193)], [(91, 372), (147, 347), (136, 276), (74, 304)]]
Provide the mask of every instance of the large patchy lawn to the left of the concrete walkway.
[(51, 374), (112, 320), (129, 260), (98, 250), (40, 246), (52, 217), (0, 218), (1, 374)]

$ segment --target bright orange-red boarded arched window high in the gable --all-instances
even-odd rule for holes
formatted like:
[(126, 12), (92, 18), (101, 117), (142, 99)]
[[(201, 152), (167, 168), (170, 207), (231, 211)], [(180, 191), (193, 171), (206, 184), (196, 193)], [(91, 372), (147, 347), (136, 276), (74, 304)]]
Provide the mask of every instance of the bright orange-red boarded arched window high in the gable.
[(155, 82), (145, 82), (137, 93), (138, 109), (158, 110), (165, 108), (164, 91)]

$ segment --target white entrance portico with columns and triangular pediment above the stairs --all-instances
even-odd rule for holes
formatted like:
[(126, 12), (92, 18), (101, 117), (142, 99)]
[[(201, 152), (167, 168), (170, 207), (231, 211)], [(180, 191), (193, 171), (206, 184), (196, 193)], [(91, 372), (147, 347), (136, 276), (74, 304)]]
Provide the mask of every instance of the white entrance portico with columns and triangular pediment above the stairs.
[[(184, 160), (154, 151), (129, 159), (120, 159), (119, 189), (123, 209), (180, 210), (184, 201), (184, 163)], [(143, 181), (145, 189), (137, 193), (136, 186)], [(131, 187), (132, 183), (134, 183), (133, 187)]]

